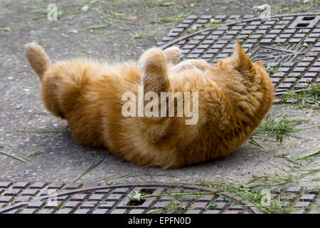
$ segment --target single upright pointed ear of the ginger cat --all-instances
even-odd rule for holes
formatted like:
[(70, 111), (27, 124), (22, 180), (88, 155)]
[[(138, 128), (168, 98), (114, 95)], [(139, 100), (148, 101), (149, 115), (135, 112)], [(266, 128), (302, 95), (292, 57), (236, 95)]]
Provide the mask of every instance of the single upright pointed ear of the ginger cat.
[(235, 69), (238, 71), (248, 70), (252, 68), (252, 62), (240, 44), (240, 42), (235, 41), (235, 48), (233, 49), (233, 56), (231, 56), (234, 61)]

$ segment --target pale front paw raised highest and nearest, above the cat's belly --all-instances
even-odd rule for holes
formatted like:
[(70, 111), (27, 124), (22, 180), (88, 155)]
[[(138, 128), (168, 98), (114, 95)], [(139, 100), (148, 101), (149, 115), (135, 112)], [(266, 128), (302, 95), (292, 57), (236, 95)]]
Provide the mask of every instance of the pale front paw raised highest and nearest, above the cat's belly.
[(159, 48), (150, 48), (139, 59), (139, 68), (142, 72), (156, 68), (162, 68), (166, 63), (164, 51)]

